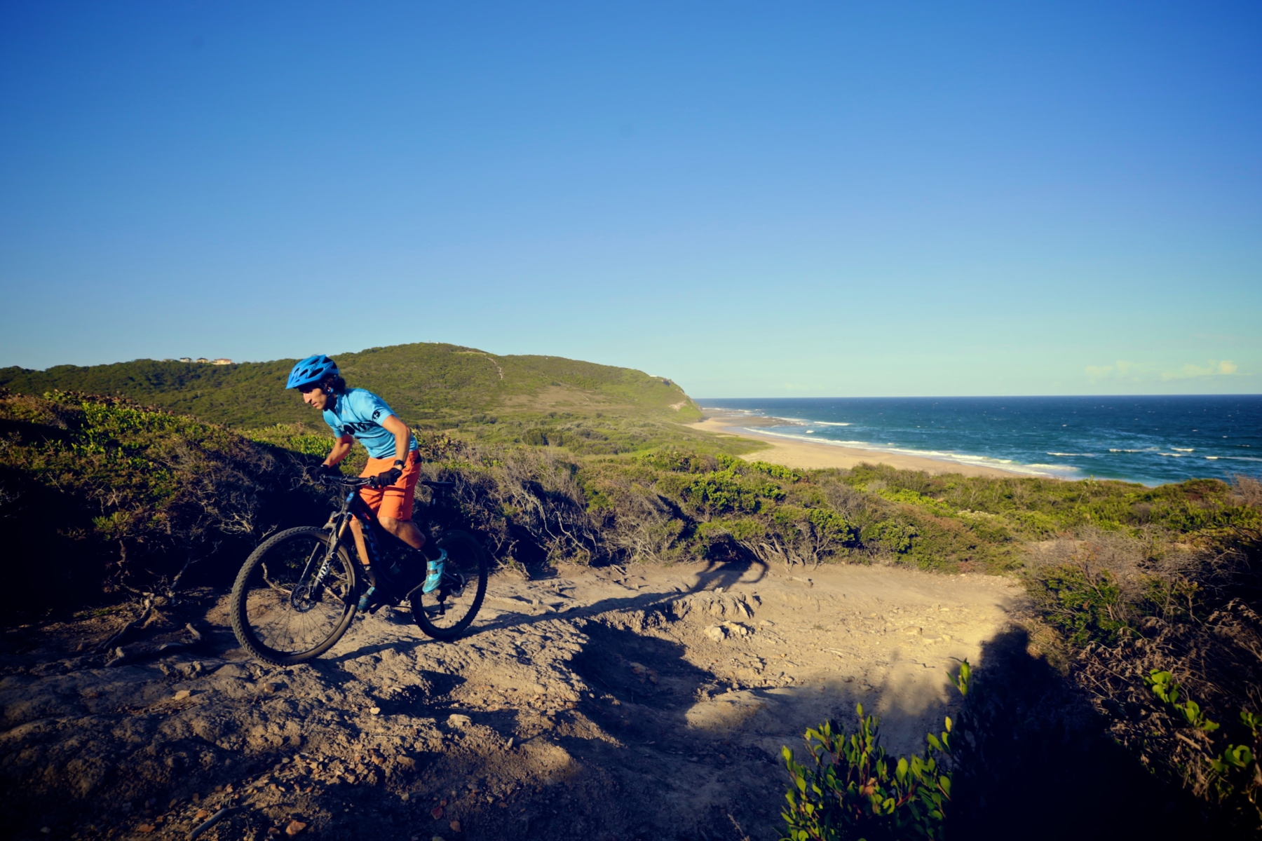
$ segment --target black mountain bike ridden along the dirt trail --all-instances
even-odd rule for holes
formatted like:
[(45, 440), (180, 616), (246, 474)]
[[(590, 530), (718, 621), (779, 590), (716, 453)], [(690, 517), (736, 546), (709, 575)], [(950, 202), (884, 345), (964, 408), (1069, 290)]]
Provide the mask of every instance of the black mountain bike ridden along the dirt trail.
[[(406, 559), (390, 547), (403, 543), (386, 533), (360, 497), (369, 479), (324, 477), (346, 490), (341, 507), (323, 527), (288, 528), (251, 552), (237, 574), (228, 615), (237, 642), (259, 659), (289, 666), (319, 657), (351, 627), (361, 603), (369, 613), (410, 601), (411, 615), (434, 639), (458, 638), (473, 622), (482, 599), (490, 560), (482, 545), (463, 531), (448, 531), (437, 545), (447, 561), (437, 589), (424, 593), (425, 564), (419, 552)], [(451, 482), (423, 482), (434, 493)], [(363, 541), (351, 530), (360, 521)], [(355, 555), (366, 555), (362, 561)]]

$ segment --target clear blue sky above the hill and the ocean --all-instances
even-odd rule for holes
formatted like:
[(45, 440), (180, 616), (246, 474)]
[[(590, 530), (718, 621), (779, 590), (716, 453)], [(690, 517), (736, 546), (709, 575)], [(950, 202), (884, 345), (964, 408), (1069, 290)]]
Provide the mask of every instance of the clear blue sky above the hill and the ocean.
[(1262, 391), (1262, 6), (0, 5), (0, 366)]

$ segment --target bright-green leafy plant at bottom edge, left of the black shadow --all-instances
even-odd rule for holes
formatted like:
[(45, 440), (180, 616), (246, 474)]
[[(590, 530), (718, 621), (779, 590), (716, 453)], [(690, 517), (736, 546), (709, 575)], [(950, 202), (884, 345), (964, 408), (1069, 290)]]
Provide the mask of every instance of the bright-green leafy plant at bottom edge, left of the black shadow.
[[(969, 664), (964, 661), (952, 681), (968, 695)], [(925, 754), (886, 755), (881, 746), (880, 721), (863, 715), (854, 733), (833, 721), (806, 730), (808, 763), (782, 749), (791, 786), (781, 816), (784, 841), (896, 841), (941, 838), (945, 808), (950, 801), (952, 774), (943, 759), (950, 755), (952, 720), (939, 735), (925, 736)], [(938, 754), (938, 758), (934, 757)]]

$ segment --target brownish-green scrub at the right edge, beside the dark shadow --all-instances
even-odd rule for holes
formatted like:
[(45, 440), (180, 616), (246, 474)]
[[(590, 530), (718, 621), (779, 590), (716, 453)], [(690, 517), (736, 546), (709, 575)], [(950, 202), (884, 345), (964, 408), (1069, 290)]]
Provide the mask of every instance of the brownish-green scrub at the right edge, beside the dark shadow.
[(1119, 745), (1208, 820), (1262, 831), (1247, 782), (1262, 779), (1251, 777), (1262, 774), (1251, 724), (1262, 709), (1258, 502), (1219, 482), (1126, 496), (1095, 511), (1133, 519), (1093, 517), (1030, 554), (1031, 601)]

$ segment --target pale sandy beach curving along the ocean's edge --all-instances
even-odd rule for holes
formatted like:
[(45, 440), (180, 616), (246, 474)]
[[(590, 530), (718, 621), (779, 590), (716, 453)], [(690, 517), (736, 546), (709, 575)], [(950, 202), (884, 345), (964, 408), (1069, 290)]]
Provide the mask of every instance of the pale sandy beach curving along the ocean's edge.
[(861, 450), (851, 446), (835, 446), (833, 444), (813, 444), (810, 441), (793, 441), (774, 435), (760, 435), (750, 426), (770, 426), (777, 421), (767, 417), (751, 417), (748, 415), (724, 415), (707, 412), (705, 420), (699, 424), (689, 424), (693, 429), (719, 435), (736, 435), (771, 445), (770, 450), (758, 450), (742, 456), (750, 461), (770, 461), (782, 464), (787, 468), (852, 468), (856, 464), (888, 464), (900, 470), (924, 470), (925, 473), (960, 473), (970, 477), (1011, 477), (1023, 475), (1015, 470), (1001, 470), (998, 468), (979, 467), (972, 464), (959, 464), (957, 461), (943, 461), (917, 455), (904, 455), (901, 453), (883, 453), (881, 450)]

